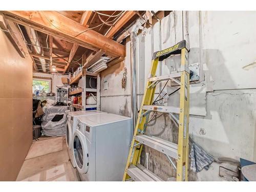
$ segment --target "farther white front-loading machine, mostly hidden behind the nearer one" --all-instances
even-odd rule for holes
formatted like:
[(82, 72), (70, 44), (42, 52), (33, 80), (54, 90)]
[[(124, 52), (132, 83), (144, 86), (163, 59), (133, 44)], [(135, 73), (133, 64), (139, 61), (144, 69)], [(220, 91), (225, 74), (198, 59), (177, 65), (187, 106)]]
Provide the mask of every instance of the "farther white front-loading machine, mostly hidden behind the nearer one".
[(76, 131), (77, 118), (81, 116), (98, 115), (98, 114), (106, 114), (106, 113), (101, 111), (75, 111), (75, 112), (68, 113), (68, 120), (66, 123), (66, 143), (68, 146), (69, 158), (73, 167), (76, 167), (76, 164), (75, 164), (74, 154), (72, 150), (72, 144), (73, 144), (72, 139)]

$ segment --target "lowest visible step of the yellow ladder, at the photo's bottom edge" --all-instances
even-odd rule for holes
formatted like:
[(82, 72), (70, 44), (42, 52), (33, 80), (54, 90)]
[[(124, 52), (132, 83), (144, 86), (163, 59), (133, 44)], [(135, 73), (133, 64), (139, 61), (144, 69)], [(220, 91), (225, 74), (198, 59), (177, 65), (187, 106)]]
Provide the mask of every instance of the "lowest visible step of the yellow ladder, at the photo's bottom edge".
[(129, 174), (134, 181), (163, 181), (139, 163), (137, 166), (131, 164), (127, 170), (127, 174)]

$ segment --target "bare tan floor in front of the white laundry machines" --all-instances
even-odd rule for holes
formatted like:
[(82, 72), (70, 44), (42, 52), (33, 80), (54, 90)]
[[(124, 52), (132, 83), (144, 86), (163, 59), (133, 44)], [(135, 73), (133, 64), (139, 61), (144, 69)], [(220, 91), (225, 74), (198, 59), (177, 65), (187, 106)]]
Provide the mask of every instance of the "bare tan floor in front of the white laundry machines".
[(25, 160), (16, 181), (80, 181), (69, 159), (66, 138), (63, 137), (63, 150)]

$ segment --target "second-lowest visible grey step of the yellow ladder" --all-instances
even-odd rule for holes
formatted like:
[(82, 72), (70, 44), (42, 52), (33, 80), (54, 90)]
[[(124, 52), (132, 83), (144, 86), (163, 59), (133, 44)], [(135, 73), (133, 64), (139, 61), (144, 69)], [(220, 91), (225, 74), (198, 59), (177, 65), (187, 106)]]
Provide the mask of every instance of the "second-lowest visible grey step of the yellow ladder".
[(137, 135), (135, 140), (165, 155), (178, 159), (178, 145), (176, 143), (147, 135)]

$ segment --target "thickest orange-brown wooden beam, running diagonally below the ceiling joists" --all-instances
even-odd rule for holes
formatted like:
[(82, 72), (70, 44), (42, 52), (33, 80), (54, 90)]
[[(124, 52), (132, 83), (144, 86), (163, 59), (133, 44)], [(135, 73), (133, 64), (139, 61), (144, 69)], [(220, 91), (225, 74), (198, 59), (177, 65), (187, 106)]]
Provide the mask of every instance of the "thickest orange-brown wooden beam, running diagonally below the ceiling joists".
[(112, 56), (125, 56), (125, 47), (118, 42), (88, 30), (56, 11), (1, 11), (9, 19), (34, 28), (35, 30), (57, 36), (63, 40), (92, 50), (102, 49)]

